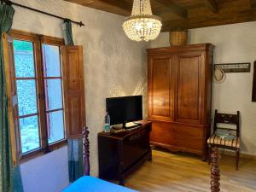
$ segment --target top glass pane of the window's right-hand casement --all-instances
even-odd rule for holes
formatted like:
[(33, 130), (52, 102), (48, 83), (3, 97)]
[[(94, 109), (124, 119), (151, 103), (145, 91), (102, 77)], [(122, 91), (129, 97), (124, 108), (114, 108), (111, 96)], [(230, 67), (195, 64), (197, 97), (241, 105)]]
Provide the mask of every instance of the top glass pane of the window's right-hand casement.
[(59, 47), (43, 44), (43, 59), (44, 77), (61, 77)]

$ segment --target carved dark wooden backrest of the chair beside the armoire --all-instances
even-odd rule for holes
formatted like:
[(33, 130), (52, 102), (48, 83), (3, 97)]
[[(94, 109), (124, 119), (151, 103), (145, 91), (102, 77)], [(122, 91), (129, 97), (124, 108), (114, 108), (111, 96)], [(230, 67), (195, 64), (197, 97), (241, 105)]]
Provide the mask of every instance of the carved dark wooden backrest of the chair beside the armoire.
[[(236, 129), (219, 128), (218, 124), (236, 125)], [(218, 129), (236, 131), (236, 137), (239, 137), (239, 135), (240, 135), (240, 112), (237, 111), (236, 114), (218, 113), (218, 110), (215, 109), (213, 131), (215, 132)]]

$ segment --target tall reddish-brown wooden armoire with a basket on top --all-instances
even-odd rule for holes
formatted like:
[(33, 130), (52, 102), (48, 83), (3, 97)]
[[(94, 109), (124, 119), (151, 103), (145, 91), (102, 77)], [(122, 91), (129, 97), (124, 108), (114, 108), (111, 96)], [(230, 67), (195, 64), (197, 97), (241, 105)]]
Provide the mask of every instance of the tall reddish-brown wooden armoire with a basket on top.
[(206, 157), (213, 48), (192, 44), (148, 49), (151, 144)]

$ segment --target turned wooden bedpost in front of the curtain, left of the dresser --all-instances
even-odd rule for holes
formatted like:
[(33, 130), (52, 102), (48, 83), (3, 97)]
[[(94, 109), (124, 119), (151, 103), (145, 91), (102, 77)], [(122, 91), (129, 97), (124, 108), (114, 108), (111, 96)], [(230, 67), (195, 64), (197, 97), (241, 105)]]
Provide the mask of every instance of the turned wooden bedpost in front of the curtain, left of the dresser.
[(84, 156), (84, 175), (90, 175), (90, 143), (88, 139), (88, 127), (83, 128), (83, 156)]

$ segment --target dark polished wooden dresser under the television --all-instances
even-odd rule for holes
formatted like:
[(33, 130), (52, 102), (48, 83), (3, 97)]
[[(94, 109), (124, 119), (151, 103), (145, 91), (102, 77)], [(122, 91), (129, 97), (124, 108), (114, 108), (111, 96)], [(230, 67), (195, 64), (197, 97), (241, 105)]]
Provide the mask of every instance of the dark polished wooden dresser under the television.
[(141, 121), (142, 126), (133, 131), (119, 134), (98, 134), (99, 177), (118, 179), (124, 185), (124, 179), (145, 160), (152, 159), (149, 142), (151, 122)]

